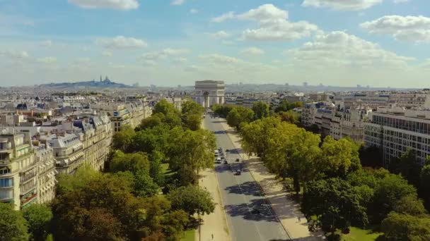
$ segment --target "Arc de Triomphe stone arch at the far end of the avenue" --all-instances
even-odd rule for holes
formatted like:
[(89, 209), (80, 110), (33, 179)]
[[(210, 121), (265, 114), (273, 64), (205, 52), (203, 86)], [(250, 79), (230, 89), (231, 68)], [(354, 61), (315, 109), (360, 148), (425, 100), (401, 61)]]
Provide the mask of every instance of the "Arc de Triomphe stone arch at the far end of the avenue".
[(204, 108), (209, 108), (213, 104), (224, 104), (224, 82), (217, 80), (196, 81), (195, 101)]

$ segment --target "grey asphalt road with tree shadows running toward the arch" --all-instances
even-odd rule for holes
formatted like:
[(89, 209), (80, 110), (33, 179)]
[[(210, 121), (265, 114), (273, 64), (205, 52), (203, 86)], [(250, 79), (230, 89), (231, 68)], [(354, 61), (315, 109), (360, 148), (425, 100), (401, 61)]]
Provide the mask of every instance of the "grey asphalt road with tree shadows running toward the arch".
[[(223, 130), (223, 121), (207, 115), (204, 127), (215, 133), (216, 144), (224, 149), (228, 161), (228, 164), (215, 164), (215, 170), (232, 239), (289, 240), (260, 187), (241, 163), (238, 150)], [(226, 152), (227, 149), (231, 152)], [(236, 159), (240, 159), (240, 162), (236, 162)], [(242, 168), (241, 175), (236, 175), (238, 168)]]

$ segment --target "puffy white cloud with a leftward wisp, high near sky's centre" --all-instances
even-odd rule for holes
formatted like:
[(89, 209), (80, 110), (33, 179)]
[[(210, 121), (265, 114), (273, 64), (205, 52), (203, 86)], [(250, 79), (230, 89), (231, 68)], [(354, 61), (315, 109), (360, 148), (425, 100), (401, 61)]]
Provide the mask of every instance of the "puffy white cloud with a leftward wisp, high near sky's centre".
[(294, 41), (303, 37), (310, 37), (318, 30), (316, 25), (306, 21), (289, 22), (288, 11), (277, 8), (272, 4), (264, 4), (248, 12), (235, 15), (233, 12), (212, 19), (219, 23), (228, 19), (254, 20), (259, 23), (257, 29), (243, 31), (243, 39), (255, 41)]

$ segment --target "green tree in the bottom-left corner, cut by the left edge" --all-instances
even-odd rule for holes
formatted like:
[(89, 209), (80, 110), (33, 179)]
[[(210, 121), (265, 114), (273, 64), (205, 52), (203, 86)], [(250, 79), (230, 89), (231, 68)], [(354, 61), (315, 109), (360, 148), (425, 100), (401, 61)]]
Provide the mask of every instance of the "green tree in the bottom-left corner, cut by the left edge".
[(28, 224), (20, 211), (13, 210), (11, 204), (0, 202), (0, 238), (1, 240), (28, 240)]

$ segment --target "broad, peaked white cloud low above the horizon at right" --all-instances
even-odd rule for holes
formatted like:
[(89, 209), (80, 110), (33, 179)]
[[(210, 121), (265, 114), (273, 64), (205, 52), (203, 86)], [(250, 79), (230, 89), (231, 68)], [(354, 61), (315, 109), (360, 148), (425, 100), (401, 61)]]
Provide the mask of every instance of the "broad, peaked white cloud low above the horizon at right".
[(398, 56), (345, 32), (322, 33), (313, 42), (285, 52), (294, 66), (306, 68), (406, 68), (414, 58)]

